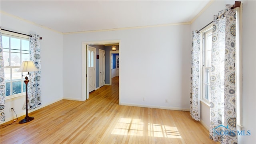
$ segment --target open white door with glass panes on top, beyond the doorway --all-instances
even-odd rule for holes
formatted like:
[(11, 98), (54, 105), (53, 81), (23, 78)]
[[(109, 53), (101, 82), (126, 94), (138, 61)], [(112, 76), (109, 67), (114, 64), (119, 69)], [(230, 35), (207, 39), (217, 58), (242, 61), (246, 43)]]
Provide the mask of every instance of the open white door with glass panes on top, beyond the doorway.
[(96, 81), (96, 48), (89, 46), (88, 55), (87, 55), (87, 64), (88, 64), (88, 92), (95, 90), (95, 81)]

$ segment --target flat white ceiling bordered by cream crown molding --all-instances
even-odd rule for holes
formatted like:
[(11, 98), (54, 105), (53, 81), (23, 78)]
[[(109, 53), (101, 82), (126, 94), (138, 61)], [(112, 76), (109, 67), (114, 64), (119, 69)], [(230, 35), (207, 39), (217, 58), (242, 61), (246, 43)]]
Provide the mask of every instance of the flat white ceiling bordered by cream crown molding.
[(0, 0), (1, 11), (61, 33), (191, 22), (210, 0)]

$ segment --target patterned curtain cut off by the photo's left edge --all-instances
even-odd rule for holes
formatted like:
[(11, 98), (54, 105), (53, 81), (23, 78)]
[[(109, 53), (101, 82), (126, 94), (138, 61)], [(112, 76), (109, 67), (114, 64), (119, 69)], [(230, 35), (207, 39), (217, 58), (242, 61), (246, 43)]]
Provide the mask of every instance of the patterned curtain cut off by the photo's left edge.
[(2, 33), (1, 33), (1, 27), (0, 27), (0, 122), (5, 121), (5, 115), (4, 115), (4, 104), (5, 104), (5, 82), (4, 82), (4, 58), (3, 58), (3, 45), (2, 45)]

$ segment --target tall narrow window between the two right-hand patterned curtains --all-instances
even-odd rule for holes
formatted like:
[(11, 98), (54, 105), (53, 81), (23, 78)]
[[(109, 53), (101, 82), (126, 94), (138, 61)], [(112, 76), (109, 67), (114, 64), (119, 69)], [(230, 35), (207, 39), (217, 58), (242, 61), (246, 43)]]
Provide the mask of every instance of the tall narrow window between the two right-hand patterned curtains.
[(202, 32), (202, 100), (210, 103), (210, 76), (212, 58), (212, 28)]

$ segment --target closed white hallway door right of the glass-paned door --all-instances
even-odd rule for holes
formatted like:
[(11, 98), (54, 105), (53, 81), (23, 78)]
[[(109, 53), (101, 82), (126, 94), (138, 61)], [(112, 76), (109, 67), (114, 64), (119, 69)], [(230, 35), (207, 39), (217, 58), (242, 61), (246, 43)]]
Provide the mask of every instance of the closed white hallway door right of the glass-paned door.
[(99, 87), (105, 85), (105, 50), (99, 50)]

